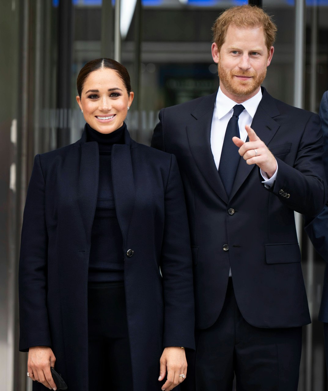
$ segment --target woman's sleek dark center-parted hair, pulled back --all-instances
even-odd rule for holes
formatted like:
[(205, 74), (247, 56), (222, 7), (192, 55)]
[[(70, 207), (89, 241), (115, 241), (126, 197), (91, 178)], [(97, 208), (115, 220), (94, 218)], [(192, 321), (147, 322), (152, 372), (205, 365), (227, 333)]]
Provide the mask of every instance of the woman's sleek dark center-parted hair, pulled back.
[(79, 94), (80, 98), (87, 77), (90, 75), (91, 72), (101, 68), (109, 68), (116, 71), (120, 79), (123, 81), (126, 91), (128, 91), (128, 95), (130, 96), (130, 75), (125, 66), (115, 60), (112, 60), (111, 58), (97, 58), (85, 64), (85, 66), (83, 66), (83, 68), (79, 72), (79, 75), (77, 76), (76, 86), (77, 93)]

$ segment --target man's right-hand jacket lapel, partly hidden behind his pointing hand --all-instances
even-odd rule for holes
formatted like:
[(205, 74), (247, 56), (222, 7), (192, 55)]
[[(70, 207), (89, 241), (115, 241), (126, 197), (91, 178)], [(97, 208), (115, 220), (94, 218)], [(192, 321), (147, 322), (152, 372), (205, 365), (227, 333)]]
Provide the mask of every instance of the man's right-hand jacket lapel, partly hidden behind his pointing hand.
[[(265, 145), (268, 145), (279, 129), (279, 124), (273, 118), (278, 116), (280, 113), (274, 99), (269, 95), (269, 93), (267, 93), (264, 87), (262, 87), (262, 94), (263, 97), (254, 115), (251, 128), (265, 143)], [(248, 137), (246, 141), (248, 141)], [(240, 158), (230, 199), (232, 199), (232, 197), (236, 194), (238, 189), (255, 167), (257, 166), (254, 164), (248, 165), (243, 158)]]

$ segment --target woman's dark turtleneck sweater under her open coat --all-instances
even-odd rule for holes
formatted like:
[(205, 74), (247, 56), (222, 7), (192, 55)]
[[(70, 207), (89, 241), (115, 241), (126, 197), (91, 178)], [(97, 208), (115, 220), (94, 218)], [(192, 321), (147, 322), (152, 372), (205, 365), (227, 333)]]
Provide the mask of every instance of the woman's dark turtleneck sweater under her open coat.
[(99, 147), (98, 198), (91, 231), (89, 282), (123, 282), (123, 239), (117, 221), (112, 184), (111, 153), (114, 144), (125, 143), (126, 124), (102, 134), (87, 124), (87, 142)]

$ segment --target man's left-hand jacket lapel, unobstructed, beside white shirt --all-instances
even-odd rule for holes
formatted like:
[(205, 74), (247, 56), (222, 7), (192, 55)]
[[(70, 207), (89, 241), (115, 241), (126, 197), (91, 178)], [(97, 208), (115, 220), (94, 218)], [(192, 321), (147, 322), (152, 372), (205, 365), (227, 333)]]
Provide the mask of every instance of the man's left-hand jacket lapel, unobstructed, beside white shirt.
[(216, 194), (228, 203), (228, 196), (216, 169), (211, 150), (211, 125), (216, 94), (217, 92), (204, 97), (191, 113), (195, 121), (187, 126), (187, 137), (191, 153), (200, 172)]

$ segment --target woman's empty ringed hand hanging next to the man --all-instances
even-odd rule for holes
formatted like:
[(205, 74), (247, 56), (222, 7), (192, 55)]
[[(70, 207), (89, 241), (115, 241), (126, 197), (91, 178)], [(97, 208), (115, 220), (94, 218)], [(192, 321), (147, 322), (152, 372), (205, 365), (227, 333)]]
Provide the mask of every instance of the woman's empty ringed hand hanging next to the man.
[[(162, 387), (162, 391), (169, 391), (184, 381), (184, 377), (187, 375), (187, 360), (184, 349), (181, 349), (179, 346), (165, 348), (159, 362), (159, 381), (164, 379), (166, 368), (168, 370), (168, 377)], [(184, 377), (180, 377), (180, 375), (184, 375)]]

